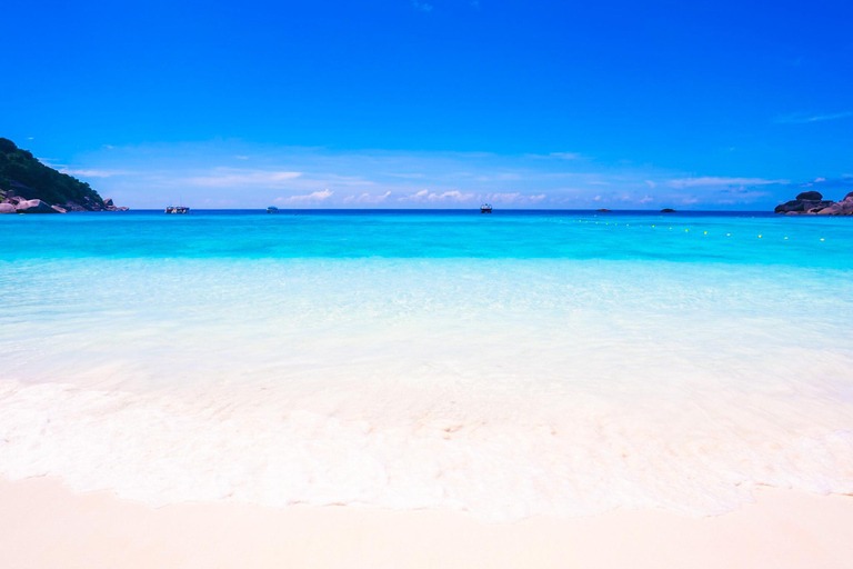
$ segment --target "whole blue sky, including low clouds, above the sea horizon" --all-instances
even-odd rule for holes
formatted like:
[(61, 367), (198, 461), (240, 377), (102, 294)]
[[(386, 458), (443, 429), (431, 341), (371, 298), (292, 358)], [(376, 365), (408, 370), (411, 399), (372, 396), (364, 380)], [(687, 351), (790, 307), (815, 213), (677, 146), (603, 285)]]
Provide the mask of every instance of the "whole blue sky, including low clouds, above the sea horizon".
[(0, 136), (131, 208), (853, 191), (853, 2), (8, 2)]

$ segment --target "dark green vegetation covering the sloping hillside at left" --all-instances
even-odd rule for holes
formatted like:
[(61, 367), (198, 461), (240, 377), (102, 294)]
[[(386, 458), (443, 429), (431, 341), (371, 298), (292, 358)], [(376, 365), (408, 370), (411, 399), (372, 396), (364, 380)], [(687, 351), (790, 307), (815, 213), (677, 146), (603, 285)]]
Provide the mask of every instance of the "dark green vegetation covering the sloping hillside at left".
[(103, 206), (101, 197), (88, 183), (42, 164), (28, 150), (0, 138), (0, 191), (8, 190), (51, 204), (62, 206), (69, 201), (82, 204), (91, 200)]

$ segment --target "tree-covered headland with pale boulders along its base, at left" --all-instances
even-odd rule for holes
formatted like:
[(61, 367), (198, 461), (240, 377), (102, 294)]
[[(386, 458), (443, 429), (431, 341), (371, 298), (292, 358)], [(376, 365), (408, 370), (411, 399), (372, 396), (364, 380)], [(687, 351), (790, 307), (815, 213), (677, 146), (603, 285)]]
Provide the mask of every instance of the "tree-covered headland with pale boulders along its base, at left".
[(88, 183), (41, 163), (29, 150), (0, 138), (0, 213), (126, 211)]

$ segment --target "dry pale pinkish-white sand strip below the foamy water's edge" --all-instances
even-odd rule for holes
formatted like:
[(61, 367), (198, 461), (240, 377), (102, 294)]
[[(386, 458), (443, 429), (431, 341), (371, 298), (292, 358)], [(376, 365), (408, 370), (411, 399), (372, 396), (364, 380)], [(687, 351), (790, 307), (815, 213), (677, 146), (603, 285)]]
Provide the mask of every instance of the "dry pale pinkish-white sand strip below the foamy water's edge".
[(0, 481), (0, 566), (12, 568), (655, 567), (846, 568), (853, 498), (764, 489), (757, 503), (694, 519), (616, 511), (484, 523), (451, 511), (153, 509), (52, 478)]

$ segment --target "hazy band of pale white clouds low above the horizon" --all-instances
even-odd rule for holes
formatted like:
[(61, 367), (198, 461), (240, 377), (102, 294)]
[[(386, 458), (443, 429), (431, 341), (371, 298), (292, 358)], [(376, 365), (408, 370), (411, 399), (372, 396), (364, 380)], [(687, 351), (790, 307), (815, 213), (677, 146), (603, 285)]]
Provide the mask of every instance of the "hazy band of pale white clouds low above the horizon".
[[(104, 197), (159, 209), (178, 196), (194, 208), (499, 208), (769, 210), (814, 186), (827, 197), (853, 178), (683, 172), (555, 150), (335, 151), (211, 141), (99, 148), (63, 160)], [(847, 181), (844, 181), (847, 180)], [(832, 186), (832, 184), (835, 186)], [(843, 188), (842, 188), (843, 186)]]

